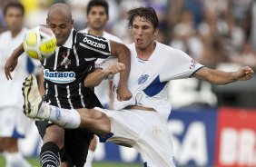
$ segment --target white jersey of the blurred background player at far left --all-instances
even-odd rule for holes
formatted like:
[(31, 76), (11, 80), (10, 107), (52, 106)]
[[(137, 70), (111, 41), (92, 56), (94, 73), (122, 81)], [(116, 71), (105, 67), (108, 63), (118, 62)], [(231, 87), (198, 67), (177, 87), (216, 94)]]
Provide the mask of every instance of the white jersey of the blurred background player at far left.
[(6, 31), (0, 35), (0, 108), (3, 107), (18, 107), (22, 109), (22, 83), (28, 75), (26, 71), (27, 56), (22, 54), (18, 59), (18, 64), (15, 71), (12, 73), (13, 80), (7, 81), (4, 73), (5, 62), (12, 54), (14, 49), (18, 47), (24, 40), (26, 29), (24, 28), (15, 38), (12, 37), (10, 31)]

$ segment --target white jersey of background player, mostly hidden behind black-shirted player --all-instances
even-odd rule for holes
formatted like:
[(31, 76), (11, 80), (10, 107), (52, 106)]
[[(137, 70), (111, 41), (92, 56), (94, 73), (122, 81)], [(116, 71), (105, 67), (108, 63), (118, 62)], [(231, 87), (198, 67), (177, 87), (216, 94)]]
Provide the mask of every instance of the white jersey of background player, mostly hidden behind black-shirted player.
[[(84, 29), (81, 32), (88, 34), (88, 28)], [(105, 31), (103, 31), (103, 37), (108, 40), (117, 42), (117, 43), (122, 43), (121, 39), (119, 39), (117, 36), (114, 36), (113, 34), (109, 34)], [(104, 60), (105, 59), (97, 59), (97, 61), (95, 62), (96, 68), (101, 68), (100, 64), (102, 64)], [(110, 103), (110, 99), (109, 99), (110, 89), (109, 88), (110, 88), (110, 86), (109, 86), (108, 80), (103, 80), (102, 83), (100, 83), (98, 86), (96, 86), (94, 88), (95, 94), (97, 95), (97, 97), (99, 98), (100, 102), (103, 104), (104, 107), (105, 107), (105, 105), (108, 105)]]

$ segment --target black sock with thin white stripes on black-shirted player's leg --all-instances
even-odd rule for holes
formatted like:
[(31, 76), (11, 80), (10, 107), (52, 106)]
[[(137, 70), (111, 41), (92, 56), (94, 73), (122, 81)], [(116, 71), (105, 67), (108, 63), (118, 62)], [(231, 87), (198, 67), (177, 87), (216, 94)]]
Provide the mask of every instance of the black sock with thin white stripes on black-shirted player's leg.
[(40, 152), (42, 167), (58, 167), (60, 165), (60, 150), (54, 142), (46, 142)]

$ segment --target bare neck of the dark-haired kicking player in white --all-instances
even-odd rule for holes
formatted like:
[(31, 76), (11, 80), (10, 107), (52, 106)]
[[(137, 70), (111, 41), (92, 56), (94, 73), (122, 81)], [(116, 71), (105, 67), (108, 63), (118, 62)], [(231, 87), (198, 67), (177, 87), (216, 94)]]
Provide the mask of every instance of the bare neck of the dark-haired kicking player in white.
[(150, 56), (153, 54), (155, 49), (156, 42), (153, 41), (152, 44), (149, 44), (146, 48), (138, 48), (136, 47), (137, 56), (139, 59), (148, 60)]

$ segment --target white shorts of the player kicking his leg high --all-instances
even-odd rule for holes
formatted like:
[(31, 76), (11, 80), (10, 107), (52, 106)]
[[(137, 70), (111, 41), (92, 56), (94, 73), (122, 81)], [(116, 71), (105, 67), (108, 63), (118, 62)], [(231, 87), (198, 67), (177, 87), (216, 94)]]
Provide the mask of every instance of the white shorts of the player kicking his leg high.
[(175, 167), (171, 133), (159, 113), (143, 110), (109, 111), (94, 108), (111, 119), (113, 136), (107, 142), (131, 145), (141, 153), (145, 166)]

